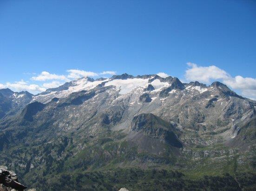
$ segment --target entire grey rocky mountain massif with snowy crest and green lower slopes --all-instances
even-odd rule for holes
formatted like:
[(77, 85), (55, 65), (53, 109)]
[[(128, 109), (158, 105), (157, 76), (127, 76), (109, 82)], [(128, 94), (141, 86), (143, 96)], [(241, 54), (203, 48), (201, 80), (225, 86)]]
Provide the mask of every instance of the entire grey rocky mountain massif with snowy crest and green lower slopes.
[(0, 90), (0, 164), (37, 191), (254, 190), (256, 101), (129, 74)]

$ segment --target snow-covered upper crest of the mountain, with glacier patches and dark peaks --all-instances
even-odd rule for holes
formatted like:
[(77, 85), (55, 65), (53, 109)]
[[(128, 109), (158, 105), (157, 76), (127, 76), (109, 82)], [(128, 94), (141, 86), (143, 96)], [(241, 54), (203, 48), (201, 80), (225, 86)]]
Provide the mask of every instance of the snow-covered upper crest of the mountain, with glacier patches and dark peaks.
[[(62, 86), (47, 89), (45, 92), (33, 96), (32, 101), (47, 103), (53, 98), (66, 98), (73, 92), (80, 92), (83, 90), (88, 91), (96, 87), (106, 86), (112, 86), (113, 89), (118, 91), (120, 95), (129, 94), (131, 92), (143, 93), (150, 91), (151, 95), (158, 96), (158, 93), (160, 93), (162, 90), (165, 92), (168, 91), (168, 87), (172, 90), (170, 93), (175, 92), (175, 89), (178, 88), (183, 90), (184, 95), (190, 94), (191, 97), (197, 95), (198, 93), (203, 93), (205, 91), (215, 92), (222, 88), (218, 86), (206, 86), (199, 82), (183, 84), (177, 78), (172, 78), (171, 76), (167, 78), (161, 78), (158, 75), (143, 75), (134, 77), (128, 74), (122, 74), (115, 75), (109, 79), (100, 78), (94, 80), (92, 78), (83, 77), (71, 82), (66, 82)], [(232, 92), (226, 86), (224, 86), (224, 89)], [(155, 99), (155, 97), (153, 97), (153, 99)]]

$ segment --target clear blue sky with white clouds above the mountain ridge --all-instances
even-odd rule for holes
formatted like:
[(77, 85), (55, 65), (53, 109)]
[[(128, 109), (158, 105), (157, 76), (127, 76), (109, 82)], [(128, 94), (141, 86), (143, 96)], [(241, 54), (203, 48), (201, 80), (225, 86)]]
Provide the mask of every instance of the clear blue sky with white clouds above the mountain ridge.
[(0, 0), (0, 88), (123, 73), (221, 81), (256, 100), (256, 1)]

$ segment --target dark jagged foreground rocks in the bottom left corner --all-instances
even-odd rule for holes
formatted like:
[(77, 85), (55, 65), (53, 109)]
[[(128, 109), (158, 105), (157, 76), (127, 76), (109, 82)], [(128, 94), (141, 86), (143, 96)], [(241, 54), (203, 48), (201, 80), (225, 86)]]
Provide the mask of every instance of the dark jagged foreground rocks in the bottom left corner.
[(6, 166), (0, 166), (0, 191), (23, 191), (25, 185), (19, 183), (17, 175), (7, 170)]

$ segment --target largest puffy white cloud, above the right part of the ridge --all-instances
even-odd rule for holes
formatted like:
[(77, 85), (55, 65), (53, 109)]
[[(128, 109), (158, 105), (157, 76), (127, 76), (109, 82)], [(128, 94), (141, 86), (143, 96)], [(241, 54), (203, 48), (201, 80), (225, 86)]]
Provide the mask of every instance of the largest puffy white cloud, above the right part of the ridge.
[(190, 67), (186, 70), (185, 78), (189, 81), (200, 81), (210, 83), (210, 80), (228, 79), (230, 75), (223, 69), (217, 66), (202, 67), (197, 66), (195, 63), (188, 62)]

